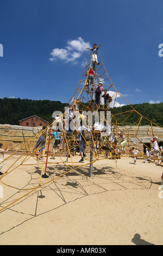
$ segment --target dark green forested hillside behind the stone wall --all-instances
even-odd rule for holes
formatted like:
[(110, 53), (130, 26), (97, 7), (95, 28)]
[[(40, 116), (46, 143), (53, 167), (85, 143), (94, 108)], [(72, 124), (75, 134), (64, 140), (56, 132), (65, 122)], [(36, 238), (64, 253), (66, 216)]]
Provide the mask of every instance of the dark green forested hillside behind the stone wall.
[[(50, 100), (28, 100), (28, 99), (8, 99), (7, 97), (0, 99), (0, 124), (18, 125), (19, 120), (30, 117), (31, 115), (37, 115), (38, 117), (45, 119), (48, 122), (53, 120), (52, 114), (54, 111), (62, 111), (66, 103), (60, 101)], [(163, 102), (159, 104), (135, 104), (131, 105), (139, 112), (143, 117), (146, 117), (156, 125), (163, 127)], [(122, 112), (130, 111), (131, 107), (126, 105), (123, 107), (110, 108), (111, 113), (118, 114)], [(140, 118), (135, 112), (131, 115), (121, 114), (118, 115), (118, 123), (125, 120), (124, 125), (133, 125), (137, 119)], [(148, 125), (149, 122), (142, 120), (141, 125)]]

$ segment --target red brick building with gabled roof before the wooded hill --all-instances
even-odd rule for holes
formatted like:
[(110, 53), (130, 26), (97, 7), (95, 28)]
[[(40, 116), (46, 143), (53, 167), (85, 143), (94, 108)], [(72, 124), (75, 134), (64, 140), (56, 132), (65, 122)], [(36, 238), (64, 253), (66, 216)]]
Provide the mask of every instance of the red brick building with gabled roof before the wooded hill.
[(30, 126), (30, 127), (36, 127), (36, 126), (43, 126), (48, 125), (48, 121), (43, 120), (40, 117), (37, 117), (37, 115), (32, 115), (32, 117), (27, 117), (22, 120), (19, 120), (20, 126)]

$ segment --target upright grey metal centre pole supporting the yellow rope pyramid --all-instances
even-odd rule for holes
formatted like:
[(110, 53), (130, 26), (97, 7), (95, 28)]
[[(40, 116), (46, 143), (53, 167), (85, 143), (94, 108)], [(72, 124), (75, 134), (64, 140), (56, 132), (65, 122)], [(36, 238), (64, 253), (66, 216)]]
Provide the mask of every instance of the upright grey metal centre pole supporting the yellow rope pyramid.
[[(96, 64), (93, 63), (93, 70), (96, 69)], [(93, 90), (92, 90), (92, 109), (95, 109), (95, 77), (93, 78)], [(91, 109), (91, 111), (92, 111)], [(92, 111), (93, 112), (93, 111)], [(93, 115), (92, 117), (92, 123), (95, 123), (95, 117)], [(91, 151), (90, 151), (90, 170), (89, 170), (89, 176), (90, 178), (93, 176), (93, 138), (91, 136)]]

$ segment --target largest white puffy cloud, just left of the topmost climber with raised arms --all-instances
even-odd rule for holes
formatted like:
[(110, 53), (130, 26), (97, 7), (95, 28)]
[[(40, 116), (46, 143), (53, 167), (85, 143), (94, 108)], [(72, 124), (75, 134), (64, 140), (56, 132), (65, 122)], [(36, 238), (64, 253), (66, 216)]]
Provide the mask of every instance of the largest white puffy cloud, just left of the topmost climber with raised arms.
[(71, 62), (77, 64), (77, 60), (82, 56), (82, 53), (86, 51), (86, 47), (91, 47), (89, 42), (85, 42), (80, 36), (77, 40), (68, 40), (65, 48), (54, 48), (51, 52), (52, 62), (56, 60), (62, 60), (65, 63)]

